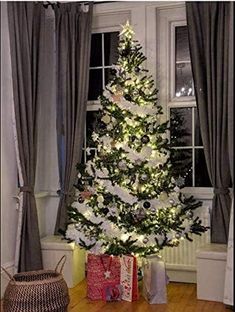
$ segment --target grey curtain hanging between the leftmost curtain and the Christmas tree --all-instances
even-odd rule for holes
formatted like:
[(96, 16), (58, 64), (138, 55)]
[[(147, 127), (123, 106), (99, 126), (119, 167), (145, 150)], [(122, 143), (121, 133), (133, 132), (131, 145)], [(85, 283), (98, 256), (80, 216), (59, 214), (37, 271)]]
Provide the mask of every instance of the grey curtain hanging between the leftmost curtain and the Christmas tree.
[(60, 202), (55, 234), (64, 231), (67, 206), (82, 155), (90, 61), (93, 4), (55, 7), (57, 53), (57, 142)]

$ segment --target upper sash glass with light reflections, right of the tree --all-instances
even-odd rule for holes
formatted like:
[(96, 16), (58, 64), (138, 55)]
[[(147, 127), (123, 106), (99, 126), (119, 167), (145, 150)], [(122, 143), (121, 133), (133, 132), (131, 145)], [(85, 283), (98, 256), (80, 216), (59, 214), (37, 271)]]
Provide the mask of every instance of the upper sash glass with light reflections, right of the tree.
[(193, 79), (187, 26), (175, 28), (175, 95), (192, 96)]

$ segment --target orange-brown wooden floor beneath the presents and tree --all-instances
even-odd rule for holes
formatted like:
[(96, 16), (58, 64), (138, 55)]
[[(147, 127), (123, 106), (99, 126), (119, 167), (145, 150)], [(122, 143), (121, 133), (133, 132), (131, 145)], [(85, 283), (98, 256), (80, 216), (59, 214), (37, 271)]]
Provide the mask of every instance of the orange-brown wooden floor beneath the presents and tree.
[(136, 302), (90, 301), (86, 298), (86, 282), (69, 290), (68, 312), (231, 312), (223, 303), (197, 300), (196, 284), (169, 283), (167, 304), (148, 304), (140, 296)]

